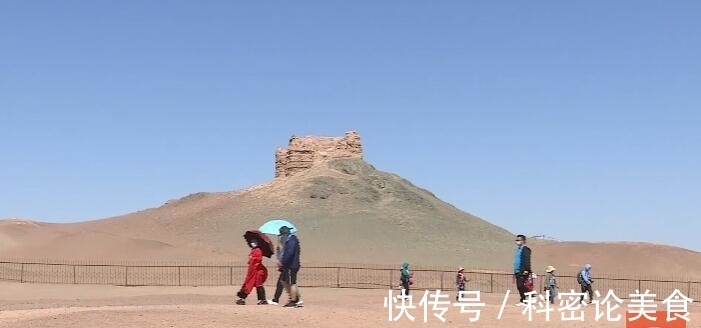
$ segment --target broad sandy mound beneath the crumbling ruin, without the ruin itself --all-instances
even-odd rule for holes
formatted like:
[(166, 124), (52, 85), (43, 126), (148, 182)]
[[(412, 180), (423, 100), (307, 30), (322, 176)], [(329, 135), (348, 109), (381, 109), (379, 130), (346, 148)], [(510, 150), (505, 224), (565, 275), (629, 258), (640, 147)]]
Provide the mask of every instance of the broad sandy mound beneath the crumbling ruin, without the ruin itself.
[[(297, 224), (306, 263), (392, 265), (406, 259), (450, 265), (467, 260), (492, 268), (503, 264), (499, 262), (509, 263), (503, 259), (512, 252), (510, 232), (361, 159), (335, 159), (246, 191), (198, 193), (120, 217), (35, 229), (55, 237), (23, 253), (77, 257), (87, 252), (79, 241), (113, 246), (129, 241), (149, 251), (172, 248), (176, 252), (197, 246), (243, 259), (247, 254), (243, 232), (272, 217), (290, 218)], [(69, 243), (75, 246), (72, 250), (66, 246)], [(101, 248), (104, 252), (98, 254)], [(141, 257), (136, 249), (121, 246), (91, 246), (90, 252)]]

